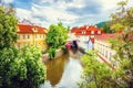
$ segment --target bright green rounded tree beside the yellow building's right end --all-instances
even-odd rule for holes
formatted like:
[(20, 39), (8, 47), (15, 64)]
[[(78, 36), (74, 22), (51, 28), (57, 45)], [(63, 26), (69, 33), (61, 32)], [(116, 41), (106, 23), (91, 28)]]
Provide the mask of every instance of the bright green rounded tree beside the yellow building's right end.
[(68, 38), (68, 28), (64, 28), (62, 23), (51, 24), (49, 28), (49, 32), (47, 34), (47, 43), (49, 46), (58, 48), (59, 46), (63, 45)]

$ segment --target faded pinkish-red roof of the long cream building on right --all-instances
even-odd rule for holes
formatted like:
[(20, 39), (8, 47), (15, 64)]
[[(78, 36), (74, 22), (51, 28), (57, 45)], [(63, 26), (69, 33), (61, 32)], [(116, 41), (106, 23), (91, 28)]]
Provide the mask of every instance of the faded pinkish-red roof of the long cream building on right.
[(95, 40), (100, 40), (100, 41), (108, 41), (108, 40), (112, 40), (115, 38), (116, 34), (101, 34), (101, 35), (96, 35)]

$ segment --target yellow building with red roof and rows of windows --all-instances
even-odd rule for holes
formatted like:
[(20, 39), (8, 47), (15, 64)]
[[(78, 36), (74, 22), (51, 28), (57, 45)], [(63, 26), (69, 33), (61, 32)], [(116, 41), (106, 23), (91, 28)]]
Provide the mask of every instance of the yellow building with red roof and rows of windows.
[(27, 45), (34, 45), (40, 50), (47, 50), (47, 29), (31, 24), (18, 24), (18, 40), (16, 46), (21, 48)]

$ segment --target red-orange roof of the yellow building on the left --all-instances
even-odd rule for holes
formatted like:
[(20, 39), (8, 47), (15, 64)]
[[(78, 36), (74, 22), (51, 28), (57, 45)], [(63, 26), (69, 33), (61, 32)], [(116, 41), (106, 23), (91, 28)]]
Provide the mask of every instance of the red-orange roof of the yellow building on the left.
[(39, 33), (43, 34), (45, 33), (44, 28), (41, 26), (34, 26), (34, 25), (28, 25), (28, 24), (18, 24), (19, 30), (17, 33)]

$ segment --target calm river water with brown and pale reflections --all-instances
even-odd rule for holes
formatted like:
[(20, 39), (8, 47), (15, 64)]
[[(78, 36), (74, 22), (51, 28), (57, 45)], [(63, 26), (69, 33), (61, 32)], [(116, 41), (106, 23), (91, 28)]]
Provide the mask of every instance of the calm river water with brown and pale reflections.
[(81, 53), (70, 51), (47, 62), (47, 81), (40, 88), (79, 88), (76, 82), (81, 80)]

